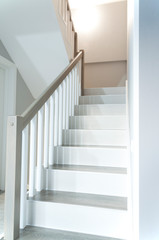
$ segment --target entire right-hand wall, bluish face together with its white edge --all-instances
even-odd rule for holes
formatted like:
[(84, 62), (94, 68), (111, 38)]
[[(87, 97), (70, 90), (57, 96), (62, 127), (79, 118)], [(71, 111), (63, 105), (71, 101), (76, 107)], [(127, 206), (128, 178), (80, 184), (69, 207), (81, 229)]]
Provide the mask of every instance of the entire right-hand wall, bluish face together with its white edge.
[(158, 240), (159, 2), (130, 0), (129, 10), (129, 107), (136, 233), (133, 239)]

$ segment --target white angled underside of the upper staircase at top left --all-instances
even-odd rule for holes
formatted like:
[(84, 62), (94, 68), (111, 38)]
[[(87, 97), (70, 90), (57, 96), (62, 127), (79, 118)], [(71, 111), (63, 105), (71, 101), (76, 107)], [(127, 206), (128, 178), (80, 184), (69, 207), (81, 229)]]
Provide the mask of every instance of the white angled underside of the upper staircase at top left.
[(1, 0), (0, 33), (34, 98), (69, 64), (52, 0)]

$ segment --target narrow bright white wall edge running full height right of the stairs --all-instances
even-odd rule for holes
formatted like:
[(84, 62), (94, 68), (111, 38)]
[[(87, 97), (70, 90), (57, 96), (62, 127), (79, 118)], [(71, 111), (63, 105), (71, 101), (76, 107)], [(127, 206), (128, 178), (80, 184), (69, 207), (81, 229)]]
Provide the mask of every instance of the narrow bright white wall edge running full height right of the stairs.
[(139, 239), (139, 1), (128, 1), (128, 101), (132, 239)]

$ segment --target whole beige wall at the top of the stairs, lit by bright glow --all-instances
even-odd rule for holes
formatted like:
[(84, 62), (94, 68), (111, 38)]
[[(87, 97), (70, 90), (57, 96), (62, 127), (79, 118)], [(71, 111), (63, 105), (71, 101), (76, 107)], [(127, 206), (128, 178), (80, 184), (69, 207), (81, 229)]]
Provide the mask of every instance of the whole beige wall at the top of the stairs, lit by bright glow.
[(72, 17), (79, 49), (85, 50), (85, 87), (124, 85), (127, 78), (126, 1), (74, 9)]

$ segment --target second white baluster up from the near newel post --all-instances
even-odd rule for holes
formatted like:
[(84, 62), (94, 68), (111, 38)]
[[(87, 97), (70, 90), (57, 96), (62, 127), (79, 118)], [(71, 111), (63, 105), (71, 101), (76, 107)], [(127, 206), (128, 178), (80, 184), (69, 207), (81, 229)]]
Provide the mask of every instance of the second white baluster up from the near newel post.
[(30, 122), (29, 197), (33, 197), (35, 194), (36, 126), (37, 126), (37, 115), (35, 115), (35, 117)]

